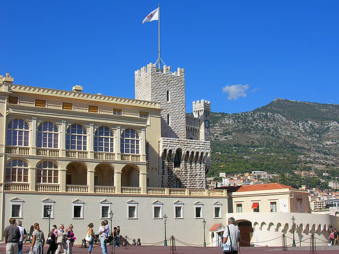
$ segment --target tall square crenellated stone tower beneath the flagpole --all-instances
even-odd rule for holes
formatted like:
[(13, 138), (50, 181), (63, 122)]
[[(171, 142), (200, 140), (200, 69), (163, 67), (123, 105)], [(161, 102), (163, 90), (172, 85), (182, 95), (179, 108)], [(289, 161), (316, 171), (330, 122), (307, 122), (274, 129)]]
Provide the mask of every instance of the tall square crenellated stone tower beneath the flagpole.
[(185, 70), (149, 63), (135, 72), (135, 99), (160, 103), (161, 136), (186, 138)]

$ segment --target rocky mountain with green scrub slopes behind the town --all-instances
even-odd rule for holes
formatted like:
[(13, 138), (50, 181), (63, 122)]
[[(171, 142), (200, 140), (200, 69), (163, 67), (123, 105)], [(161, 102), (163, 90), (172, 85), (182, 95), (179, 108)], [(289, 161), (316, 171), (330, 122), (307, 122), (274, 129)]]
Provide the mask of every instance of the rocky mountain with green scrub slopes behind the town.
[(339, 105), (276, 99), (250, 112), (211, 113), (211, 148), (208, 176), (334, 170), (339, 168)]

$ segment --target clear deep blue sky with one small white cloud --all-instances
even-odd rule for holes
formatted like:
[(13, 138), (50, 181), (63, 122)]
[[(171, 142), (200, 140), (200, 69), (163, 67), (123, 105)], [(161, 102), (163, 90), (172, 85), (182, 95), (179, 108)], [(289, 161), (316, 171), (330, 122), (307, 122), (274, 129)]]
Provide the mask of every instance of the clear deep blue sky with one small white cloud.
[(134, 71), (186, 70), (186, 109), (251, 111), (276, 97), (339, 103), (339, 1), (3, 1), (0, 74), (15, 84), (134, 97)]

